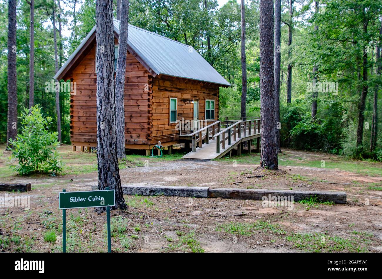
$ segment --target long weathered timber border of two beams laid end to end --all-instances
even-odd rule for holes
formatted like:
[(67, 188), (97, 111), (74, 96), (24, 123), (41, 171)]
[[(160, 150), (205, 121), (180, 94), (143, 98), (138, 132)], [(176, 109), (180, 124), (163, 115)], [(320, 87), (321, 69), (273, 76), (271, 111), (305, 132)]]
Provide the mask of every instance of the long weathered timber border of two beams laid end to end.
[[(97, 190), (92, 185), (92, 190)], [(187, 186), (128, 186), (122, 185), (123, 194), (141, 196), (177, 196), (177, 197), (221, 197), (223, 199), (262, 200), (263, 197), (293, 197), (295, 202), (316, 197), (323, 202), (346, 204), (345, 192), (331, 191), (295, 191), (295, 190), (267, 190), (267, 189), (240, 189), (240, 188), (209, 188)]]

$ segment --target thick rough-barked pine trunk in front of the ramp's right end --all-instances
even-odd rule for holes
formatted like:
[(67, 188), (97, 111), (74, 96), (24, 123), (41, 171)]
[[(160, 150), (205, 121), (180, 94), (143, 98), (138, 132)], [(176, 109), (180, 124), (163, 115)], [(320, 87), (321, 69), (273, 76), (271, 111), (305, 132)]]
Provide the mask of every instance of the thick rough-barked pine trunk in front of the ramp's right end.
[(277, 170), (273, 25), (273, 0), (260, 0), (260, 165)]

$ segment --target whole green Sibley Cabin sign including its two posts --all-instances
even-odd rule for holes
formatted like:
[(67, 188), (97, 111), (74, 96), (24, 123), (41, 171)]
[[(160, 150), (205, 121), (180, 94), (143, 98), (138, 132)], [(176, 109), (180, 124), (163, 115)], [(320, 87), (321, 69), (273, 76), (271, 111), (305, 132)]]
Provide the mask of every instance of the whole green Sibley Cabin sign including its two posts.
[(62, 209), (62, 252), (66, 252), (66, 209), (84, 207), (106, 207), (107, 212), (107, 250), (112, 252), (110, 232), (110, 207), (115, 205), (115, 191), (95, 190), (66, 192), (65, 189), (58, 195), (58, 209)]

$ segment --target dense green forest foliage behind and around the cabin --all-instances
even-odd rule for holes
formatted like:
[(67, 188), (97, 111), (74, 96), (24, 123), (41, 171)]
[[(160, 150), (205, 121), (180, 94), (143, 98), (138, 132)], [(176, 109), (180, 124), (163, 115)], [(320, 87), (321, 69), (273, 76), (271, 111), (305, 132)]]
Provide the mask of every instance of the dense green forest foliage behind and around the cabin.
[[(95, 0), (83, 0), (74, 11), (60, 2), (63, 37), (58, 35), (59, 67), (73, 53), (95, 24)], [(297, 3), (297, 2), (296, 2)], [(52, 117), (50, 131), (57, 130), (55, 94), (44, 90), (55, 73), (53, 2), (35, 1), (35, 103), (41, 112)], [(312, 1), (298, 1), (293, 17), (293, 40), (288, 42), (289, 10), (282, 2), (280, 116), (283, 147), (321, 150), (349, 157), (382, 160), (382, 140), (371, 154), (370, 134), (373, 95), (379, 90), (378, 107), (382, 106), (381, 76), (376, 74), (376, 42), (379, 37), (382, 0), (320, 0), (319, 13)], [(241, 99), (241, 26), (240, 5), (228, 0), (219, 6), (216, 0), (130, 0), (129, 23), (170, 39), (193, 46), (231, 83), (220, 88), (219, 115), (240, 115)], [(28, 107), (29, 91), (29, 9), (18, 3), (17, 16), (17, 85), (18, 111)], [(115, 10), (115, 9), (114, 9)], [(74, 19), (75, 13), (75, 19)], [(56, 13), (58, 15), (58, 13)], [(7, 4), (0, 3), (0, 142), (6, 141), (7, 119)], [(116, 16), (116, 14), (115, 14)], [(259, 88), (259, 0), (245, 4), (247, 115), (260, 115)], [(365, 31), (363, 24), (367, 22)], [(286, 22), (286, 23), (285, 23)], [(48, 24), (47, 24), (48, 23)], [(58, 25), (58, 18), (56, 21)], [(315, 28), (318, 27), (318, 29)], [(57, 26), (58, 27), (58, 26)], [(208, 39), (210, 44), (208, 45)], [(210, 47), (209, 47), (210, 46)], [(367, 82), (363, 81), (363, 51), (367, 53)], [(288, 53), (291, 55), (288, 55)], [(286, 104), (286, 72), (292, 67), (292, 103)], [(313, 77), (312, 69), (317, 66)], [(318, 93), (317, 116), (311, 119), (312, 93), (306, 89), (313, 78), (321, 82), (338, 82), (338, 94)], [(363, 130), (363, 144), (356, 147), (359, 96), (368, 86)], [(379, 85), (377, 89), (376, 85)], [(60, 92), (62, 142), (70, 143), (70, 94)], [(378, 133), (382, 133), (382, 114), (378, 112)], [(18, 123), (19, 124), (19, 123)], [(21, 126), (21, 125), (18, 125)], [(378, 138), (381, 138), (380, 136)]]

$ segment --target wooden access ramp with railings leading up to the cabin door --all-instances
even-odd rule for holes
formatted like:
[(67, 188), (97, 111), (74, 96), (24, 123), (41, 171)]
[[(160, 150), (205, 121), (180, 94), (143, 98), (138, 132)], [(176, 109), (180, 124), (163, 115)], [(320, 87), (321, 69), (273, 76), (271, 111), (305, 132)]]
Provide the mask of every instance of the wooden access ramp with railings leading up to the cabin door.
[[(244, 122), (244, 121), (241, 121), (241, 122)], [(223, 157), (225, 154), (227, 154), (228, 152), (230, 152), (232, 149), (234, 149), (235, 146), (238, 146), (238, 148), (240, 148), (241, 143), (244, 143), (245, 141), (249, 141), (254, 138), (260, 138), (260, 133), (259, 133), (260, 122), (258, 122), (257, 125), (255, 122), (254, 126), (247, 125), (247, 122), (244, 122), (243, 124), (237, 122), (235, 124), (236, 126), (234, 128), (228, 127), (225, 130), (217, 133), (217, 135), (213, 135), (211, 139), (207, 140), (206, 138), (204, 138), (205, 142), (203, 144), (199, 143), (199, 147), (194, 148), (195, 151), (188, 152), (182, 158), (209, 159), (209, 160), (219, 159)], [(229, 135), (228, 137), (226, 137), (228, 130), (231, 130), (231, 131), (229, 131)], [(230, 140), (230, 137), (231, 137), (231, 140)], [(224, 138), (224, 143), (223, 143), (223, 138)], [(218, 141), (219, 141), (219, 147), (218, 147)]]

